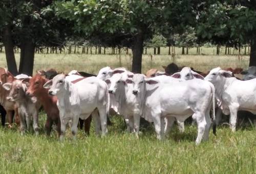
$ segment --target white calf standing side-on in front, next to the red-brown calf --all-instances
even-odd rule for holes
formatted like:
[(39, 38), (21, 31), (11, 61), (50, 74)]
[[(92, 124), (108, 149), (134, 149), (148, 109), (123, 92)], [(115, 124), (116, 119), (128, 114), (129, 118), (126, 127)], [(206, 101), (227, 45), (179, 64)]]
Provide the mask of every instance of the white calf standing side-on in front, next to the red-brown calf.
[(48, 92), (50, 95), (56, 95), (58, 98), (57, 106), (61, 121), (60, 140), (65, 136), (69, 120), (72, 120), (71, 131), (75, 139), (78, 119), (87, 119), (91, 114), (96, 134), (99, 134), (101, 128), (102, 136), (105, 136), (108, 132), (106, 116), (109, 111), (107, 84), (96, 77), (84, 78), (75, 83), (67, 78), (69, 76), (59, 74), (44, 85), (44, 88), (50, 88)]

